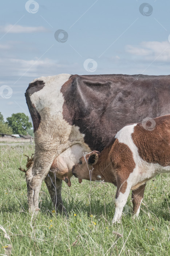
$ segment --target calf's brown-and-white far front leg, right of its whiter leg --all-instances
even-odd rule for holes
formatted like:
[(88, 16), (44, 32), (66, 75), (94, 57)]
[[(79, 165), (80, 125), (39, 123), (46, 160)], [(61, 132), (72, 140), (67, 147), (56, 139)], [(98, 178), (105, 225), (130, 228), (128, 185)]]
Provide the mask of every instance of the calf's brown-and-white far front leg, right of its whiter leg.
[(138, 217), (146, 184), (132, 191), (133, 213)]

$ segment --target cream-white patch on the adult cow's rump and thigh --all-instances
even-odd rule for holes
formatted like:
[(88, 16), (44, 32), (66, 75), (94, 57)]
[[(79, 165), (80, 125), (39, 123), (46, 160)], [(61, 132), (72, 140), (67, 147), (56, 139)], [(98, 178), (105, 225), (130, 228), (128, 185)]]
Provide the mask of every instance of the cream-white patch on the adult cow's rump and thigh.
[(70, 74), (60, 74), (33, 80), (33, 82), (41, 80), (45, 83), (40, 91), (30, 96), (32, 104), (41, 117), (39, 128), (35, 132), (35, 155), (47, 152), (48, 154), (43, 153), (42, 161), (47, 162), (46, 155), (48, 155), (49, 168), (50, 162), (52, 164), (56, 157), (67, 149), (69, 151), (74, 144), (79, 143), (84, 151), (91, 151), (84, 143), (84, 134), (80, 133), (79, 127), (70, 125), (63, 118), (64, 97), (60, 90), (70, 76)]

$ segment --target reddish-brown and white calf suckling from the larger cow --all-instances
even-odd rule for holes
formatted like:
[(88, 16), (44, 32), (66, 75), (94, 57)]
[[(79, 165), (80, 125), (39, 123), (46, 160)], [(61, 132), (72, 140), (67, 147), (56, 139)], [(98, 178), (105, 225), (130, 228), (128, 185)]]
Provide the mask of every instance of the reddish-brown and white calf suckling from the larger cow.
[(133, 213), (138, 216), (146, 182), (157, 174), (170, 172), (170, 115), (150, 122), (150, 130), (145, 123), (123, 127), (101, 153), (88, 153), (72, 168), (79, 183), (82, 179), (104, 180), (117, 186), (112, 223), (119, 222), (130, 190)]

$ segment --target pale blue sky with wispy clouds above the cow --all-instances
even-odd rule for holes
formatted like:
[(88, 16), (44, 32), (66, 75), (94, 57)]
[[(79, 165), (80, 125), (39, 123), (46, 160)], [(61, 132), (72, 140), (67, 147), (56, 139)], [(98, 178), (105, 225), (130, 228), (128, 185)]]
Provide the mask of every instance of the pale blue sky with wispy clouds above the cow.
[(0, 112), (30, 117), (25, 90), (57, 74), (170, 74), (169, 0), (5, 0)]

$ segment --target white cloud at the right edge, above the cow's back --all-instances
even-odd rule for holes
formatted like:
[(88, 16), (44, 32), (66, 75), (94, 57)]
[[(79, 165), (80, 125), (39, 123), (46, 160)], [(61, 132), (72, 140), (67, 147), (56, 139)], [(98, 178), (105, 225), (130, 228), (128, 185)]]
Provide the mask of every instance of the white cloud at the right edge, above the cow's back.
[(126, 52), (143, 60), (170, 61), (170, 43), (168, 41), (141, 42), (139, 46), (126, 45)]

